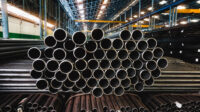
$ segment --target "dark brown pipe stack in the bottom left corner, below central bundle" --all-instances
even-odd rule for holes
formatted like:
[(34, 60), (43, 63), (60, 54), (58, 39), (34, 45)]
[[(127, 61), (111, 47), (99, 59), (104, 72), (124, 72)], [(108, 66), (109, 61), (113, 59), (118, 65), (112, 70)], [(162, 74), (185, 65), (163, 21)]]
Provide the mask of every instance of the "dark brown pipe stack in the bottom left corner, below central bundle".
[(1, 95), (0, 112), (61, 112), (62, 99), (50, 94)]

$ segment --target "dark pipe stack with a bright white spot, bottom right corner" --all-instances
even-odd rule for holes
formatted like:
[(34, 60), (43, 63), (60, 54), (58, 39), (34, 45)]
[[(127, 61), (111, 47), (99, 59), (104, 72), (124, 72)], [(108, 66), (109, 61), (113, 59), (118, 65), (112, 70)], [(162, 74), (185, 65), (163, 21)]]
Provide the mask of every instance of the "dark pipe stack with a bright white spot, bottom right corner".
[(200, 95), (163, 94), (156, 95), (145, 102), (151, 112), (198, 112)]

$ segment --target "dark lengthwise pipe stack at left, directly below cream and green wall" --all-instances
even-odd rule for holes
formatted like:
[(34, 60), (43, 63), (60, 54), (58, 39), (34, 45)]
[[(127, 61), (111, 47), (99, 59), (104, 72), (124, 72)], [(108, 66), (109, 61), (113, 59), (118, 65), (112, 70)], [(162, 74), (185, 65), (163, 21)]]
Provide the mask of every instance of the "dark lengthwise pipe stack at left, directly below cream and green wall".
[(41, 40), (12, 40), (0, 39), (0, 59), (19, 57), (26, 55), (31, 47), (43, 47)]

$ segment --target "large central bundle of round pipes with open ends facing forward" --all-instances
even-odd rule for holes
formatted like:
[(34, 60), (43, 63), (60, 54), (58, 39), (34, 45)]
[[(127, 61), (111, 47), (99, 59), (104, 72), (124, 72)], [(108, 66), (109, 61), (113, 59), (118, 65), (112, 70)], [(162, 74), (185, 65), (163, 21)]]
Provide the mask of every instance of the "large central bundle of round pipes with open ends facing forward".
[(71, 36), (57, 29), (45, 38), (44, 52), (36, 47), (28, 51), (38, 89), (121, 96), (130, 87), (141, 92), (145, 84), (151, 86), (167, 67), (163, 49), (155, 39), (144, 39), (140, 30), (104, 37), (101, 29), (94, 29), (86, 40), (83, 32)]

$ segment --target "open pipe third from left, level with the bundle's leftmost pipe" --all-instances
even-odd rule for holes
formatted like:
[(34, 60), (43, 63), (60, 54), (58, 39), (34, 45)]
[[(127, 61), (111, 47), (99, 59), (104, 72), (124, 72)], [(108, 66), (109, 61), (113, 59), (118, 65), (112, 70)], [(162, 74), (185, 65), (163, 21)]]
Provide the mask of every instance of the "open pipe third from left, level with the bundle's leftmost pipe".
[(67, 56), (67, 53), (62, 48), (57, 48), (57, 49), (54, 49), (54, 51), (53, 51), (53, 57), (56, 60), (62, 61), (64, 59), (66, 59), (66, 56)]

